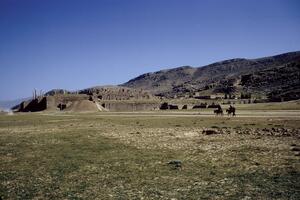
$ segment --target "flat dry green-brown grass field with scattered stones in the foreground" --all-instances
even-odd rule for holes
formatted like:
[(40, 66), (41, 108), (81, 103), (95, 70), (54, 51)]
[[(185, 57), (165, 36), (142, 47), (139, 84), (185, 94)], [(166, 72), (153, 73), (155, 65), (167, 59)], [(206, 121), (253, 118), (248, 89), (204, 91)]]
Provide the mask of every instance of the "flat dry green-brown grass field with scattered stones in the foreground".
[(299, 103), (237, 107), (0, 115), (0, 197), (299, 199)]

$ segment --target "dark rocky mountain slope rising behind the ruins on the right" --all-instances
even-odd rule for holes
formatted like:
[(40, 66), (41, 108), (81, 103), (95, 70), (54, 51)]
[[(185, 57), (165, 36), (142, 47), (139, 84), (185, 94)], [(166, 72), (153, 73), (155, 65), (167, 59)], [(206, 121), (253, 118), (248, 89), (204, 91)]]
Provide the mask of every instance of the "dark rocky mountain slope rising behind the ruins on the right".
[[(196, 92), (199, 95), (253, 93), (271, 97), (295, 90), (296, 94), (292, 96), (297, 98), (299, 63), (300, 51), (258, 59), (236, 58), (202, 67), (183, 66), (146, 73), (121, 86), (144, 89), (165, 97)], [(247, 79), (247, 76), (251, 78)], [(278, 90), (281, 92), (278, 93)]]

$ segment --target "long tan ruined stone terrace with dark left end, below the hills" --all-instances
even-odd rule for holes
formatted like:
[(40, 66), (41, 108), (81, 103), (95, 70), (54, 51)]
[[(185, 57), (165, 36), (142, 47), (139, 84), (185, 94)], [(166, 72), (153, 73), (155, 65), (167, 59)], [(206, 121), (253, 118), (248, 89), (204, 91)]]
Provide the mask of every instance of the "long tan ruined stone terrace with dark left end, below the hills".
[(95, 87), (73, 93), (46, 94), (22, 102), (18, 111), (146, 111), (158, 109), (160, 105), (150, 93), (124, 87)]

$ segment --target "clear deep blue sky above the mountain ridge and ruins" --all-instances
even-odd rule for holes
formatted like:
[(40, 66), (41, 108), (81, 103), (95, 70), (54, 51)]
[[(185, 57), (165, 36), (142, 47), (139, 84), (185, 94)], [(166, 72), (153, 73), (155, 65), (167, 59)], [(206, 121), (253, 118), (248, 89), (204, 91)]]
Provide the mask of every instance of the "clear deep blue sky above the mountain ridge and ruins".
[(0, 100), (297, 50), (299, 0), (0, 0)]

